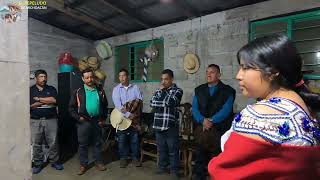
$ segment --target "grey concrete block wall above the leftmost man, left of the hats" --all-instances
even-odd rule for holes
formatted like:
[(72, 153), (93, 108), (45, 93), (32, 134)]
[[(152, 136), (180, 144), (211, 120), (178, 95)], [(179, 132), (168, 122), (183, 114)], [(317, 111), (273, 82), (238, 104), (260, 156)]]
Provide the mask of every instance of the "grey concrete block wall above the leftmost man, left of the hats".
[(93, 41), (40, 21), (31, 19), (30, 26), (32, 26), (32, 31), (29, 33), (30, 68), (46, 70), (48, 83), (55, 87), (58, 84), (58, 58), (61, 53), (69, 51), (73, 57), (79, 58), (87, 56), (89, 50), (94, 49)]

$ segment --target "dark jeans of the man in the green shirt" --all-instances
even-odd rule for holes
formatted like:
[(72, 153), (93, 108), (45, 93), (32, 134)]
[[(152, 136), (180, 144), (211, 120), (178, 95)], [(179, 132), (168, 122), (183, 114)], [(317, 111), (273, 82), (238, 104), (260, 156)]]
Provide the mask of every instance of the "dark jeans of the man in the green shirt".
[(82, 166), (88, 165), (88, 149), (89, 145), (94, 146), (94, 158), (96, 163), (101, 164), (101, 146), (102, 134), (101, 127), (97, 120), (84, 121), (78, 123), (78, 142), (79, 142), (79, 156), (80, 164)]

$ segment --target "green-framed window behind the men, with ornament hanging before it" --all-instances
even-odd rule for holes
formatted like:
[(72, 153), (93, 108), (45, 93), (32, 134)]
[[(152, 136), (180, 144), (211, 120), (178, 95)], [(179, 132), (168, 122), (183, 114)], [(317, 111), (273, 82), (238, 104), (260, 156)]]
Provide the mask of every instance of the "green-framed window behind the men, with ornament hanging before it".
[(131, 82), (143, 82), (143, 63), (140, 59), (144, 57), (145, 48), (151, 43), (159, 51), (158, 56), (148, 63), (147, 82), (160, 82), (161, 72), (163, 70), (163, 39), (153, 39), (133, 44), (126, 44), (116, 47), (115, 63), (115, 82), (119, 82), (118, 72), (121, 68), (129, 71)]

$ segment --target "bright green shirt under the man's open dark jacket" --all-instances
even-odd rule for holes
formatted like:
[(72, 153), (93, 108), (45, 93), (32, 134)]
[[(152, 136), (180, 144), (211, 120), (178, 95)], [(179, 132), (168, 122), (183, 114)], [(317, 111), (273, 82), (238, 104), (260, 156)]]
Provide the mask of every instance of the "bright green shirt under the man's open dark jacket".
[(98, 90), (96, 87), (89, 88), (85, 84), (83, 86), (84, 86), (84, 90), (86, 92), (87, 112), (91, 117), (98, 116), (99, 115), (99, 106), (100, 106)]

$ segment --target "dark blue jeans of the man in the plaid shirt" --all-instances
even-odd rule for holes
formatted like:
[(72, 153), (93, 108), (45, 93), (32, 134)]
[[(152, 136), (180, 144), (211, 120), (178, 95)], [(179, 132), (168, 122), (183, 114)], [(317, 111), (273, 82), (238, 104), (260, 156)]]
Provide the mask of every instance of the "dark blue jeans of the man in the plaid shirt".
[(171, 127), (165, 131), (156, 131), (156, 140), (159, 149), (159, 168), (164, 170), (170, 162), (170, 172), (179, 170), (179, 129)]

